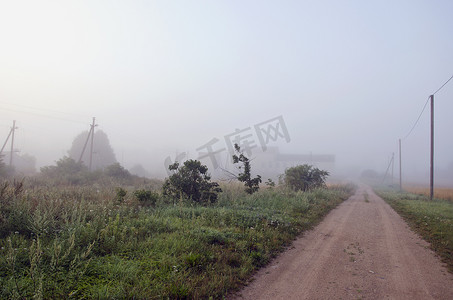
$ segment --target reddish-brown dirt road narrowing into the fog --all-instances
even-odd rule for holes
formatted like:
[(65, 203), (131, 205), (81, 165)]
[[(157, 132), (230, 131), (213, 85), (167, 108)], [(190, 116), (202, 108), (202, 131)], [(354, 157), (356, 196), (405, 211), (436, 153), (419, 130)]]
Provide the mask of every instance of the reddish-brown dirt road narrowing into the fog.
[(237, 299), (453, 299), (453, 275), (366, 186), (260, 270)]

